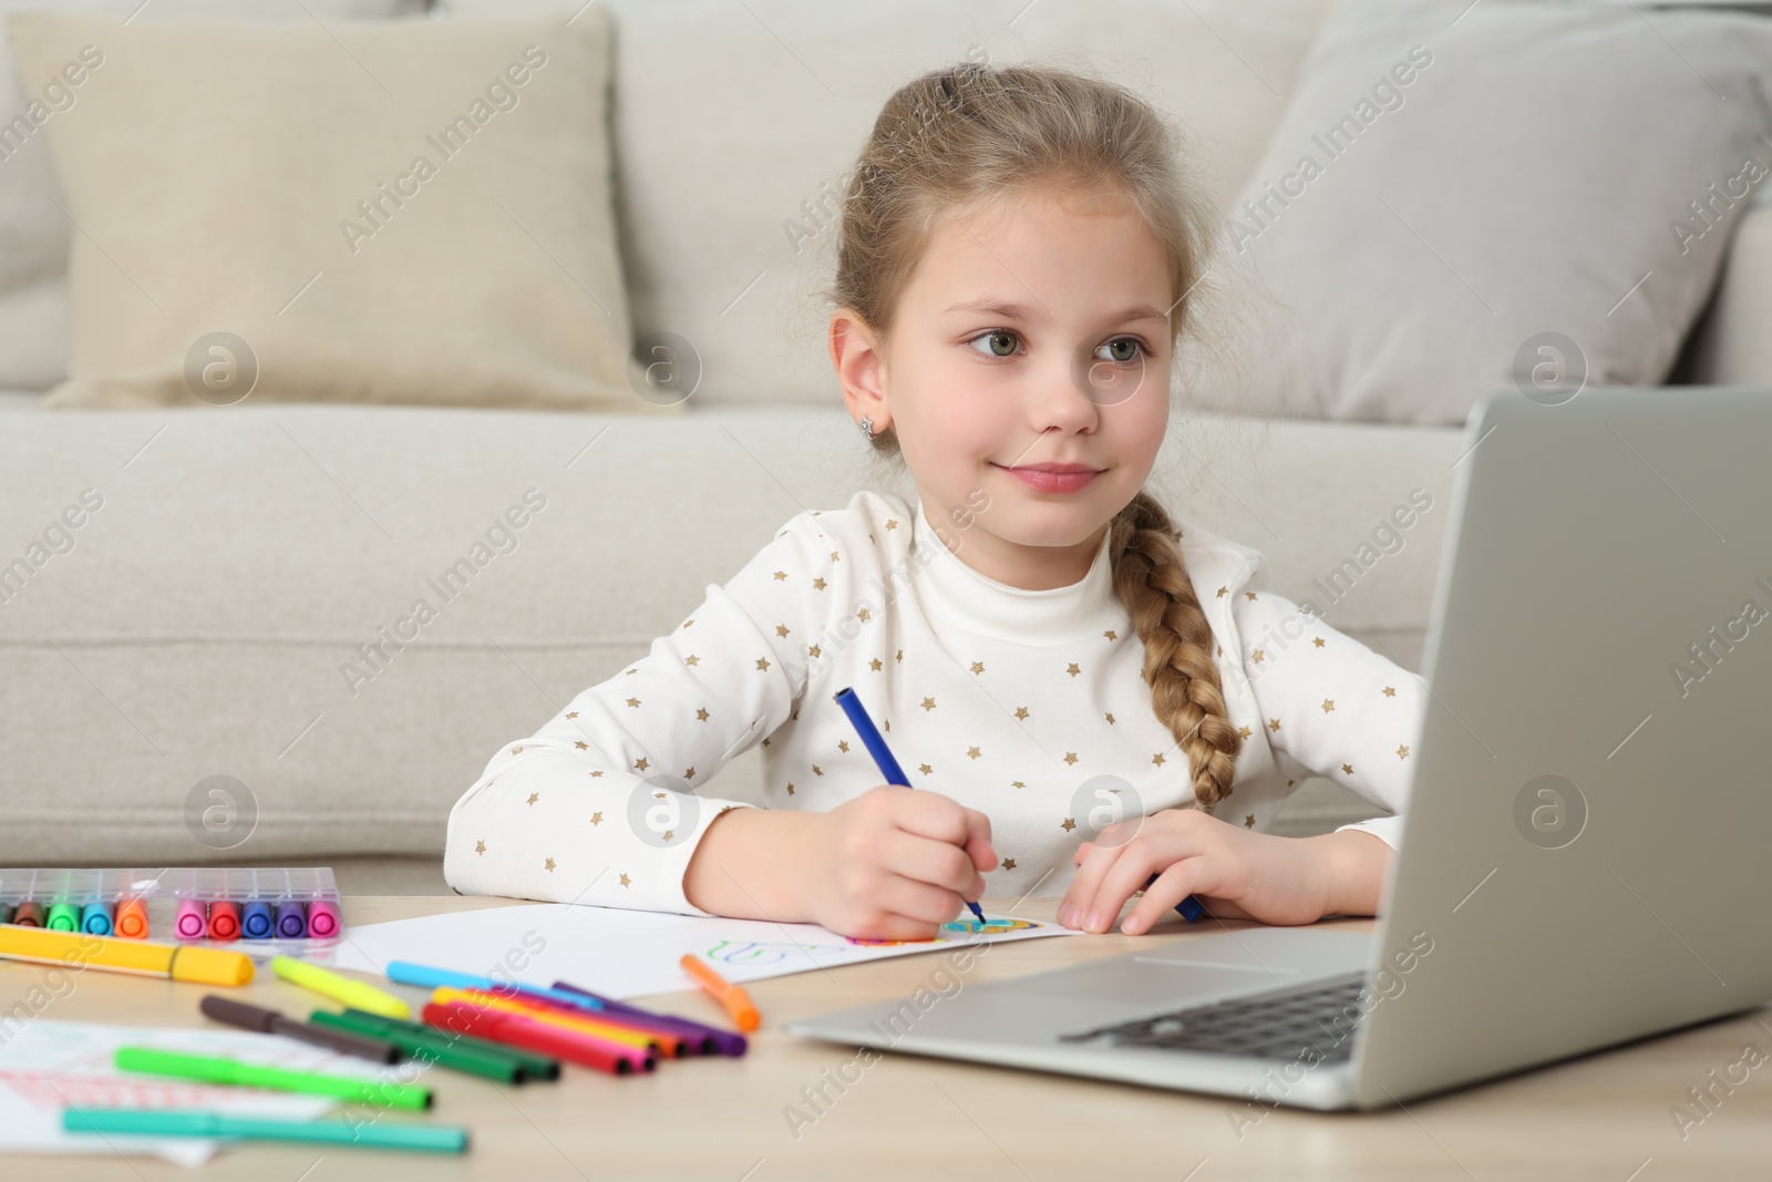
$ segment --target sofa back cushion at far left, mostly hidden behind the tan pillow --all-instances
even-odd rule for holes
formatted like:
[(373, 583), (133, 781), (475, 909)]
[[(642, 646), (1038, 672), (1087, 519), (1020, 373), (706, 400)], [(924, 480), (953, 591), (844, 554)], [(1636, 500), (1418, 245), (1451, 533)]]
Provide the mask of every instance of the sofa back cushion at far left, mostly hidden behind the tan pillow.
[[(424, 0), (0, 0), (7, 12), (55, 9), (99, 12), (122, 23), (179, 19), (198, 12), (241, 18), (307, 19), (307, 4), (321, 19), (409, 16)], [(133, 23), (133, 21), (131, 21)], [(57, 209), (67, 204), (55, 184), (43, 126), (74, 110), (82, 87), (62, 87), (48, 99), (25, 94), (12, 71), (12, 51), (0, 19), (0, 386), (48, 390), (67, 376), (67, 245), (73, 227)], [(32, 106), (32, 101), (37, 106)], [(23, 119), (23, 122), (19, 122)]]

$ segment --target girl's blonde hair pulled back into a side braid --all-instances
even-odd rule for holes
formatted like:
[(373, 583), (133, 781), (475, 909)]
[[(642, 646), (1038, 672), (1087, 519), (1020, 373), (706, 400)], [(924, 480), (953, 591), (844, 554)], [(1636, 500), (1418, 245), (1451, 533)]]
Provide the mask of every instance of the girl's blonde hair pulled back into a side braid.
[[(1194, 197), (1178, 161), (1177, 131), (1113, 82), (1047, 66), (966, 62), (930, 71), (886, 99), (874, 122), (849, 179), (829, 294), (884, 342), (941, 218), (1035, 188), (1108, 183), (1166, 246), (1177, 296), (1173, 346), (1210, 241), (1210, 207)], [(902, 461), (890, 427), (872, 447)], [(1152, 709), (1187, 753), (1194, 799), (1210, 810), (1230, 796), (1240, 737), (1224, 718), (1212, 626), (1178, 537), (1162, 505), (1139, 491), (1115, 516), (1108, 551), (1115, 594), (1145, 643)]]

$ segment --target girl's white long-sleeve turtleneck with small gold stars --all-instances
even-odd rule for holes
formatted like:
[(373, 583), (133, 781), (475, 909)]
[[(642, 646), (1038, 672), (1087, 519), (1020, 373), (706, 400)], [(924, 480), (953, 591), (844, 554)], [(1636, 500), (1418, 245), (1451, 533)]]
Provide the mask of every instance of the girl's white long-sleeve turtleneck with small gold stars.
[[(1258, 551), (1177, 528), (1242, 735), (1214, 815), (1265, 829), (1311, 774), (1396, 813), (1426, 682), (1269, 594)], [(833, 700), (851, 686), (911, 787), (991, 817), (989, 893), (1063, 893), (1100, 826), (1194, 801), (1111, 574), (1104, 537), (1079, 583), (1008, 587), (948, 549), (921, 500), (863, 491), (801, 512), (645, 657), (493, 755), (450, 810), (445, 879), (707, 914), (684, 870), (714, 817), (753, 806), (695, 792), (728, 758), (764, 744), (769, 808), (828, 810), (886, 782)], [(1396, 847), (1400, 826), (1341, 828)]]

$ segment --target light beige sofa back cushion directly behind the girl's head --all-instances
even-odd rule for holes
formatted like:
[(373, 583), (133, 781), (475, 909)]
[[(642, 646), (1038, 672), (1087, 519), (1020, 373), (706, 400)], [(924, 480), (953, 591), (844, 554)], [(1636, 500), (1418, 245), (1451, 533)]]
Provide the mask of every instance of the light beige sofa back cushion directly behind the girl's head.
[[(454, 12), (516, 0), (447, 0)], [(574, 0), (530, 0), (571, 14)], [(599, 7), (602, 7), (599, 4)], [(700, 353), (696, 400), (838, 397), (831, 218), (881, 105), (973, 57), (1093, 69), (1194, 135), (1221, 207), (1279, 117), (1325, 0), (610, 0), (617, 184), (640, 333)]]

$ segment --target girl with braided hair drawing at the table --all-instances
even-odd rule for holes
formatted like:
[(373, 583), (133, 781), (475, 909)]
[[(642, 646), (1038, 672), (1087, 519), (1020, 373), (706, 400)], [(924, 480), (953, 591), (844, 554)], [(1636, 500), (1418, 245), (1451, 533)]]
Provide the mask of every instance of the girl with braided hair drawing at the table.
[[(1263, 829), (1308, 774), (1398, 810), (1425, 682), (1141, 487), (1209, 216), (1122, 87), (968, 64), (893, 94), (849, 184), (829, 349), (916, 503), (797, 514), (493, 755), (450, 812), (450, 886), (874, 939), (1042, 888), (1090, 932), (1141, 890), (1125, 932), (1189, 893), (1265, 923), (1373, 914), (1400, 819)], [(845, 686), (916, 790), (881, 783)], [(755, 743), (764, 808), (695, 794)]]

